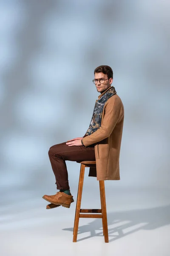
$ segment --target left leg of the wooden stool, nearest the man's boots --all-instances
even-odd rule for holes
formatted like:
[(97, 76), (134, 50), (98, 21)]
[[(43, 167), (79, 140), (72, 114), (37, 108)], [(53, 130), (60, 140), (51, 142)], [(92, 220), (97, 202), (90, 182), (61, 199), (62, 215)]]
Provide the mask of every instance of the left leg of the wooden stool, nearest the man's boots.
[(81, 200), (82, 200), (82, 187), (85, 175), (85, 165), (81, 163), (80, 167), (80, 176), (79, 176), (79, 188), (77, 193), (77, 205), (76, 205), (76, 214), (75, 214), (75, 221), (74, 221), (74, 234), (73, 234), (73, 242), (77, 242), (77, 233), (79, 228), (79, 214), (80, 214), (80, 207), (81, 207)]

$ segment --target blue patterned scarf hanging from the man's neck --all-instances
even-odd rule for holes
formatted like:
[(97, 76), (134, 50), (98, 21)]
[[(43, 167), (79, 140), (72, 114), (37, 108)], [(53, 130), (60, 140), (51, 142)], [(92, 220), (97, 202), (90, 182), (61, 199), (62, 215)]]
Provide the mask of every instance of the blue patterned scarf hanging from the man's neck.
[(97, 129), (99, 129), (99, 127), (101, 126), (102, 111), (103, 111), (104, 105), (107, 102), (107, 100), (114, 94), (116, 94), (115, 87), (111, 87), (106, 93), (102, 95), (100, 99), (98, 99), (98, 101), (96, 101), (96, 104), (94, 106), (93, 116), (91, 118), (89, 128), (86, 131), (84, 137), (94, 133)]

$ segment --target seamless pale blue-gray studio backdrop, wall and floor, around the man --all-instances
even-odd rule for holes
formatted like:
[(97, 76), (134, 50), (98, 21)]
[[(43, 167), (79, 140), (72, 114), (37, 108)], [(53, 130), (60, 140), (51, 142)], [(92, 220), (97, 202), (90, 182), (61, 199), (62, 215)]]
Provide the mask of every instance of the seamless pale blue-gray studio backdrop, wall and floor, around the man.
[[(167, 0), (0, 1), (2, 255), (169, 255), (169, 13)], [(48, 150), (87, 131), (103, 64), (125, 108), (121, 180), (105, 181), (110, 243), (95, 235), (100, 219), (81, 219), (76, 244), (80, 165), (66, 162), (75, 203), (46, 211), (42, 195), (57, 192)], [(84, 208), (100, 207), (98, 183), (87, 168)]]

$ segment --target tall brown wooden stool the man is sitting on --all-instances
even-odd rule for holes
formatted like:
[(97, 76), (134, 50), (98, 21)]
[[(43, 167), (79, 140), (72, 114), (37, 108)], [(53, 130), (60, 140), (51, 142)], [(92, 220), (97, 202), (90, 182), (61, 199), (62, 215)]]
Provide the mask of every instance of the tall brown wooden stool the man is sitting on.
[[(77, 242), (79, 218), (102, 218), (103, 235), (105, 236), (105, 243), (108, 243), (109, 242), (108, 221), (107, 221), (107, 212), (106, 212), (104, 180), (99, 180), (101, 209), (80, 209), (85, 167), (95, 167), (96, 161), (82, 161), (82, 162), (77, 161), (77, 163), (81, 163), (81, 166), (80, 166), (80, 175), (79, 175), (79, 186), (78, 186), (78, 192), (77, 192), (76, 212), (75, 212), (75, 218), (74, 218), (73, 242)], [(80, 212), (83, 212), (85, 214), (82, 214)], [(101, 213), (101, 214), (87, 214), (87, 213)]]

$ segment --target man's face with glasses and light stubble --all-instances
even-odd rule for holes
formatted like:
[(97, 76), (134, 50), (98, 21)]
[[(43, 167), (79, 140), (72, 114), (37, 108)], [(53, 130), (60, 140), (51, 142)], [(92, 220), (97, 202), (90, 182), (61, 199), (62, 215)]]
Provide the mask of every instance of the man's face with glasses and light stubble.
[(105, 90), (111, 87), (111, 83), (113, 79), (112, 78), (108, 79), (108, 76), (103, 74), (102, 72), (94, 74), (94, 79), (101, 79), (101, 78), (107, 79), (107, 80), (105, 80), (104, 83), (98, 80), (97, 84), (95, 85), (96, 85), (97, 91), (102, 94)]

